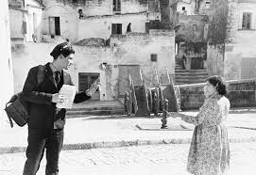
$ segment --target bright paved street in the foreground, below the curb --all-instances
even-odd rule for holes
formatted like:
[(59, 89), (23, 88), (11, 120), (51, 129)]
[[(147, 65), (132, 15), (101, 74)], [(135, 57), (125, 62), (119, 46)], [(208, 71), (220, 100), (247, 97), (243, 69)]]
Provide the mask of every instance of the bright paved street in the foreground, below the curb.
[[(189, 175), (188, 144), (61, 151), (60, 175)], [(230, 175), (256, 174), (256, 142), (231, 143)], [(0, 175), (19, 175), (25, 153), (0, 154)], [(38, 175), (43, 175), (45, 157)]]

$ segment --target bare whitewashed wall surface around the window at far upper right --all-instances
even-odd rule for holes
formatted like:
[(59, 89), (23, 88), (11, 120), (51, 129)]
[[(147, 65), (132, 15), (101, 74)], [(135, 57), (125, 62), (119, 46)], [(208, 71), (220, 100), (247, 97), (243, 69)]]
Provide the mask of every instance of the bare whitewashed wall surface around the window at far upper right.
[[(256, 3), (232, 3), (232, 43), (227, 44), (224, 75), (230, 79), (241, 79), (242, 58), (256, 58)], [(252, 12), (252, 30), (241, 30), (243, 12)]]

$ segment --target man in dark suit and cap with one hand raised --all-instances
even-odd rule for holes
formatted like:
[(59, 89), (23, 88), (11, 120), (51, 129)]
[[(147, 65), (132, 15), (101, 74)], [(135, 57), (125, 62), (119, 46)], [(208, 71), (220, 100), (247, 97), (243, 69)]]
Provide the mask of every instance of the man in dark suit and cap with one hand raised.
[[(46, 150), (46, 175), (59, 172), (59, 155), (63, 143), (63, 128), (66, 109), (57, 108), (66, 97), (59, 94), (62, 85), (73, 85), (67, 70), (73, 64), (75, 51), (69, 42), (57, 45), (50, 56), (53, 62), (43, 66), (43, 82), (38, 83), (40, 66), (31, 68), (26, 77), (23, 96), (30, 103), (28, 125), (28, 146), (24, 175), (35, 175)], [(96, 85), (98, 86), (98, 85)], [(92, 86), (93, 87), (93, 86)], [(74, 103), (91, 99), (94, 88), (78, 92)]]

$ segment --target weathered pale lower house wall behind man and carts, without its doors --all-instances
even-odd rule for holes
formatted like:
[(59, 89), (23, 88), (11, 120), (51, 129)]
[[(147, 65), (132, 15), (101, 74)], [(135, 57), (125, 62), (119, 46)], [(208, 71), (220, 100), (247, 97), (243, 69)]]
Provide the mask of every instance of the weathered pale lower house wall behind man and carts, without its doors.
[[(140, 65), (145, 80), (149, 82), (156, 69), (160, 74), (174, 74), (175, 37), (173, 31), (151, 30), (149, 34), (129, 33), (111, 37), (111, 46), (78, 46), (75, 65), (68, 72), (78, 87), (79, 72), (100, 74), (100, 100), (118, 97), (118, 65)], [(52, 61), (49, 53), (57, 43), (32, 43), (16, 45), (12, 48), (15, 92), (22, 90), (28, 70), (36, 65)], [(157, 54), (158, 61), (151, 62), (150, 55)], [(106, 69), (100, 69), (102, 63)], [(21, 67), (21, 65), (23, 65)]]

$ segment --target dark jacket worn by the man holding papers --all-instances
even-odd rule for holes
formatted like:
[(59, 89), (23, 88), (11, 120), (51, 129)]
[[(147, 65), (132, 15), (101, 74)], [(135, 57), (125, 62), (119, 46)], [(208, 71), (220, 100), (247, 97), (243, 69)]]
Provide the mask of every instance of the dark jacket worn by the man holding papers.
[[(65, 123), (66, 109), (58, 109), (56, 103), (52, 103), (52, 94), (58, 93), (63, 84), (73, 85), (70, 75), (67, 72), (61, 72), (60, 83), (57, 85), (50, 63), (44, 65), (43, 82), (38, 84), (39, 66), (31, 68), (26, 77), (23, 88), (23, 97), (29, 103), (28, 130), (36, 131), (46, 135), (53, 131), (54, 122), (61, 119), (62, 129)], [(89, 100), (91, 97), (86, 93), (76, 94), (74, 103), (81, 103)]]

